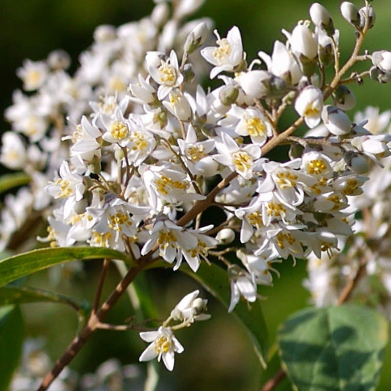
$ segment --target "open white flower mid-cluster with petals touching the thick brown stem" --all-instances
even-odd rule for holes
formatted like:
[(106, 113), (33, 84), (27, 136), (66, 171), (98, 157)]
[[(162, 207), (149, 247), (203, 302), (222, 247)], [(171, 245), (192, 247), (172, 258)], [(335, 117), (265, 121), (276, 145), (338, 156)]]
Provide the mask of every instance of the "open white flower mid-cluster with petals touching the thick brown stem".
[(256, 159), (261, 157), (261, 148), (248, 144), (240, 148), (236, 141), (226, 133), (221, 133), (221, 141), (216, 142), (217, 155), (213, 158), (220, 164), (228, 166), (245, 179), (253, 177), (253, 167)]

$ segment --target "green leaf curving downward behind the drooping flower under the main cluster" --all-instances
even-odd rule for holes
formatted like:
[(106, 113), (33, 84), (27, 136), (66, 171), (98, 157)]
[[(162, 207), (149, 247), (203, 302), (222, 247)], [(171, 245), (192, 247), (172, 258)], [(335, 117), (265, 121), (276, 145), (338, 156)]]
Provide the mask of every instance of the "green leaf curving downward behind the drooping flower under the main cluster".
[[(205, 289), (215, 296), (226, 308), (229, 307), (231, 289), (227, 273), (224, 269), (215, 264), (208, 265), (206, 263), (201, 263), (196, 273), (187, 265), (182, 265), (179, 270), (201, 283)], [(246, 328), (253, 341), (255, 352), (261, 361), (261, 365), (266, 367), (268, 334), (261, 305), (259, 302), (247, 305), (247, 303), (240, 301), (232, 313)]]

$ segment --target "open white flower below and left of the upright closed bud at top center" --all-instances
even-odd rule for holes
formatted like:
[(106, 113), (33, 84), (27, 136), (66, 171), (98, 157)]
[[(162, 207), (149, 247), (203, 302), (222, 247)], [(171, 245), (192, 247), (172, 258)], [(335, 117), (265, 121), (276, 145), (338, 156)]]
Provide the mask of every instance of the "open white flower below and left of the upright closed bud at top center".
[[(152, 79), (159, 84), (157, 99), (162, 100), (174, 88), (179, 87), (183, 82), (183, 75), (179, 71), (178, 58), (174, 50), (171, 51), (167, 60), (160, 58), (160, 52), (148, 52), (146, 61), (148, 72)], [(157, 63), (159, 59), (159, 63)]]

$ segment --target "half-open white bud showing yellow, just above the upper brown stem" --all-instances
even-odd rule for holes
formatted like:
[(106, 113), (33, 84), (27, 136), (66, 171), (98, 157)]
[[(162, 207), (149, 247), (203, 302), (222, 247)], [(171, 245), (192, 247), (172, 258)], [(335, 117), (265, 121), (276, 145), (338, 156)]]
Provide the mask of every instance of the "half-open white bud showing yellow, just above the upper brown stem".
[(323, 93), (319, 88), (307, 86), (296, 98), (295, 110), (304, 117), (308, 128), (315, 128), (321, 121)]

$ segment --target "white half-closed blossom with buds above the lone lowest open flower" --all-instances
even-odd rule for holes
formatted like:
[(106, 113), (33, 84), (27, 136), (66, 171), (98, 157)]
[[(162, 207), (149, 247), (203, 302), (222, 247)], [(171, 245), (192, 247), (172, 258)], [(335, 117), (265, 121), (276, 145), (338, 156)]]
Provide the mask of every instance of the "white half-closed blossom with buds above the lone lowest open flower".
[(197, 297), (199, 290), (195, 290), (187, 294), (175, 308), (171, 311), (171, 317), (174, 320), (186, 321), (193, 323), (194, 321), (204, 321), (211, 317), (210, 314), (205, 314), (206, 304), (208, 300)]

